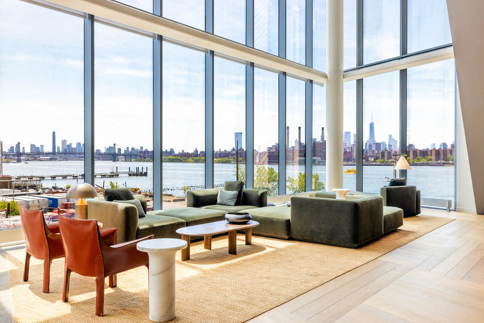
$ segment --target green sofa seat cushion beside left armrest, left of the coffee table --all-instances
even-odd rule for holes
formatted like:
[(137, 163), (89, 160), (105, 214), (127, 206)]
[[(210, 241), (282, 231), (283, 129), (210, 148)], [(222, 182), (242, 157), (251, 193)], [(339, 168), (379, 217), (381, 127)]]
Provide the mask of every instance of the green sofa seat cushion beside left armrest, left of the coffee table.
[(138, 219), (136, 229), (136, 239), (144, 238), (154, 234), (154, 238), (174, 238), (180, 239), (180, 234), (176, 231), (185, 227), (185, 221), (171, 216), (160, 216), (147, 214)]

